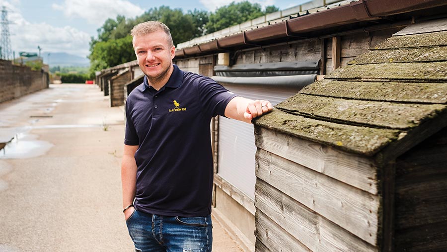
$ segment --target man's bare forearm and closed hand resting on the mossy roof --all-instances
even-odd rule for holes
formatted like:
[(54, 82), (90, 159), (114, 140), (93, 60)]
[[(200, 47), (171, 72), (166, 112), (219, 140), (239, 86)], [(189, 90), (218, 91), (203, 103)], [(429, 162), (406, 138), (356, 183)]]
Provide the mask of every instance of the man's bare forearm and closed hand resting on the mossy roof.
[(236, 96), (232, 98), (225, 108), (225, 116), (246, 123), (251, 123), (253, 118), (268, 113), (273, 109), (268, 100), (251, 100)]

